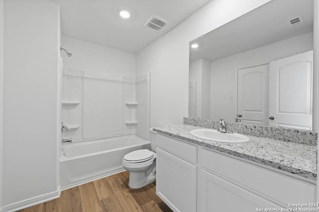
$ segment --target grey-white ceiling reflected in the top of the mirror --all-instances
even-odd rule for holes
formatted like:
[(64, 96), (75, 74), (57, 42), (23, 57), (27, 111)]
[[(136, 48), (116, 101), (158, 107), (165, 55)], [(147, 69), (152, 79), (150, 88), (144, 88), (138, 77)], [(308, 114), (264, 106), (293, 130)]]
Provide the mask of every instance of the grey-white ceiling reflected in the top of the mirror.
[[(215, 61), (240, 52), (313, 32), (314, 0), (272, 0), (267, 4), (197, 38), (189, 60)], [(304, 23), (289, 26), (288, 20), (302, 16)]]

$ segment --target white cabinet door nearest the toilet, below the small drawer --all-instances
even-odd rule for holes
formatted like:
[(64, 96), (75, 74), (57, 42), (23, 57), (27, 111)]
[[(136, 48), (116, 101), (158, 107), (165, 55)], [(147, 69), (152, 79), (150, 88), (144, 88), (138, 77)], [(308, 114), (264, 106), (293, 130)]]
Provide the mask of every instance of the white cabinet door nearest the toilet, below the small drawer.
[(175, 212), (195, 212), (197, 167), (160, 148), (156, 157), (157, 195)]

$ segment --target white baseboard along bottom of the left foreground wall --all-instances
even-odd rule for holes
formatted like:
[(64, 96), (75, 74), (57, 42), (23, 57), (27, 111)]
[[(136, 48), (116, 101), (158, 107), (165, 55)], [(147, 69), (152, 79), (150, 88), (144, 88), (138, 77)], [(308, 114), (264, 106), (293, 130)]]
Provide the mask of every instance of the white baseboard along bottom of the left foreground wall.
[(54, 200), (60, 197), (61, 189), (58, 187), (57, 191), (51, 192), (45, 195), (41, 195), (35, 198), (30, 198), (28, 200), (23, 200), (17, 203), (10, 204), (8, 206), (4, 206), (0, 209), (0, 212), (15, 212), (21, 209), (25, 209), (40, 203), (44, 203), (50, 200)]

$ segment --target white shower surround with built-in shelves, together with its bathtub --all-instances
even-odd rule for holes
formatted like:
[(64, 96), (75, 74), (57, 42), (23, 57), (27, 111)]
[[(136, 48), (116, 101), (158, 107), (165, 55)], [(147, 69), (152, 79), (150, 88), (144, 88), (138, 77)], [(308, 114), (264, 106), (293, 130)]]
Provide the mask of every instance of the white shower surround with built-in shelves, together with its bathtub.
[[(105, 70), (107, 71), (107, 70)], [(125, 154), (148, 148), (151, 74), (137, 77), (66, 68), (61, 189), (123, 171)]]

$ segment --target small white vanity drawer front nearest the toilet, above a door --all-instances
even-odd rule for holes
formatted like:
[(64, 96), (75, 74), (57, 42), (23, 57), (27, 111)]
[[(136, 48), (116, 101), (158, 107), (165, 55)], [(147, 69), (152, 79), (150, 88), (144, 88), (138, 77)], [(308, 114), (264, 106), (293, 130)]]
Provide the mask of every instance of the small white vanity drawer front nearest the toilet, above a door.
[(160, 134), (157, 135), (156, 141), (157, 147), (190, 162), (197, 162), (197, 145), (185, 141), (178, 141)]

